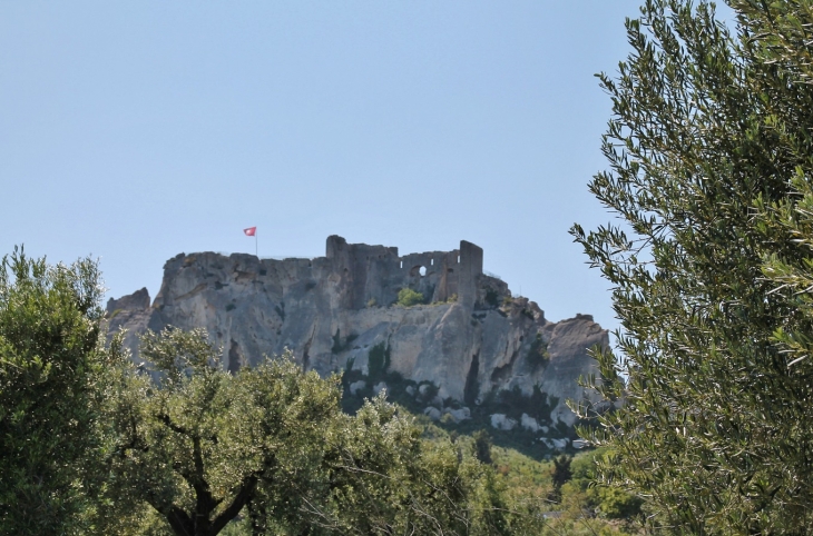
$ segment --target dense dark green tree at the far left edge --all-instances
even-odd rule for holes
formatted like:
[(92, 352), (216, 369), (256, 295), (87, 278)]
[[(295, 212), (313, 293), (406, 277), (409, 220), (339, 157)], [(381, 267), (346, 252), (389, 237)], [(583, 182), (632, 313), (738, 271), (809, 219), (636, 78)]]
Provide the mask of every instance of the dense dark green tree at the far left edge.
[(87, 527), (99, 455), (99, 271), (32, 259), (0, 262), (0, 534)]

